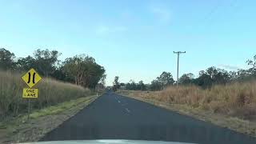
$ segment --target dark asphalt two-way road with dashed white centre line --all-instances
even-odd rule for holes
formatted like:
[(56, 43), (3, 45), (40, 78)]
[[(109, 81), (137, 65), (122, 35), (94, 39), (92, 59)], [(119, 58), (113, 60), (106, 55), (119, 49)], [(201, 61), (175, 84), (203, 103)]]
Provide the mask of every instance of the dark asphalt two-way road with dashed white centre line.
[(255, 144), (256, 139), (146, 102), (108, 92), (41, 141), (135, 139), (206, 144)]

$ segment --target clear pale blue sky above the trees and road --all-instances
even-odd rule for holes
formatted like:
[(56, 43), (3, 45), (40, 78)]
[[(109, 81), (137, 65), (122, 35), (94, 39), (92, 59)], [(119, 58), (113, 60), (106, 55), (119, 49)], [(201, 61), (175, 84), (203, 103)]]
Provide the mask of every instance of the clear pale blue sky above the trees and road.
[(106, 68), (108, 85), (176, 78), (209, 66), (246, 68), (256, 54), (256, 2), (238, 0), (0, 1), (0, 47), (17, 57), (41, 49), (61, 59), (89, 54)]

